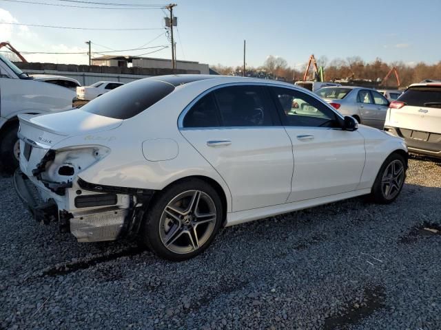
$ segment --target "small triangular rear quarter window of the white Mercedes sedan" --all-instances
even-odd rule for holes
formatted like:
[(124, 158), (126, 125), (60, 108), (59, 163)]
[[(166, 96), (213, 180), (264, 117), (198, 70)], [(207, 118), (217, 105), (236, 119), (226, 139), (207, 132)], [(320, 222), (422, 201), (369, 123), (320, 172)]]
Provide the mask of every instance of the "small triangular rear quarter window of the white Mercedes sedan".
[(214, 102), (213, 93), (209, 93), (196, 104), (185, 115), (184, 127), (218, 127), (218, 109)]

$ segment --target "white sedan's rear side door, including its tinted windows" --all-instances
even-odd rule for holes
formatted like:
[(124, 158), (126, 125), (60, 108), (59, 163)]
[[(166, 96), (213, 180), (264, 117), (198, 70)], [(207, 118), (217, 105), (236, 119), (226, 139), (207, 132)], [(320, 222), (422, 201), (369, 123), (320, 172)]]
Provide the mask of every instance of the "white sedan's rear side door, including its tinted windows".
[(285, 203), (293, 173), (291, 140), (265, 87), (220, 87), (184, 113), (181, 133), (223, 177), (234, 212)]

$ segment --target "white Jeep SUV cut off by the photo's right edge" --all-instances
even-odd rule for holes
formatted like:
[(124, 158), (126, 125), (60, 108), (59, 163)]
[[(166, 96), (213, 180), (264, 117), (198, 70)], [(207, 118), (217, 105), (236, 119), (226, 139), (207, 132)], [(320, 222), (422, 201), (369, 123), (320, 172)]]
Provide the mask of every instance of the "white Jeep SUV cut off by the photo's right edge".
[(404, 138), (409, 151), (441, 158), (441, 83), (418, 83), (391, 102), (384, 130)]

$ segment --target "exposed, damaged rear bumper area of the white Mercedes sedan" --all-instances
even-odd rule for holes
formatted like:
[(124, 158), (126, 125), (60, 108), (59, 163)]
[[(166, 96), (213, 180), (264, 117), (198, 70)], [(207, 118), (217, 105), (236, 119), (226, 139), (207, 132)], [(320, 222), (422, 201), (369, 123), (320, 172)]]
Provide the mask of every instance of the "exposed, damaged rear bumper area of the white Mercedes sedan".
[[(80, 242), (112, 241), (139, 231), (154, 190), (98, 186), (81, 179), (67, 184), (42, 182), (17, 170), (17, 194), (37, 221), (59, 222)], [(49, 185), (49, 186), (48, 186)]]

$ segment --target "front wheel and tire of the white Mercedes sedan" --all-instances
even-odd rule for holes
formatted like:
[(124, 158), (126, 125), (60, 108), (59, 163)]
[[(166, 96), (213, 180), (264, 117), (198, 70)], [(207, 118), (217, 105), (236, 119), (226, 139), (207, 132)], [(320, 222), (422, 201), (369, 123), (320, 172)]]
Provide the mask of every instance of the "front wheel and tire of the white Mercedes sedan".
[[(371, 200), (388, 204), (400, 195), (406, 179), (407, 162), (402, 155), (392, 153), (384, 161), (371, 190)], [(389, 190), (387, 189), (389, 186)]]

